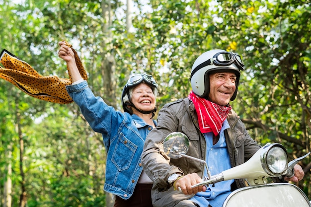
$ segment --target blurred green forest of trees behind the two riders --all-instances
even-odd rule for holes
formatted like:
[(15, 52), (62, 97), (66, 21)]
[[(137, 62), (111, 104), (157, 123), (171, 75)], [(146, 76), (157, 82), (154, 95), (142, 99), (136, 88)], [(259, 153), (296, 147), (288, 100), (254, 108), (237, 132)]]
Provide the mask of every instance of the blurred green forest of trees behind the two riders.
[[(159, 83), (157, 107), (188, 95), (194, 60), (242, 56), (233, 109), (261, 144), (311, 150), (310, 0), (0, 0), (0, 50), (68, 78), (58, 42), (77, 50), (95, 93), (121, 110), (131, 72)], [(76, 104), (35, 99), (0, 79), (0, 207), (111, 207), (106, 152)], [(311, 199), (311, 156), (297, 183)]]

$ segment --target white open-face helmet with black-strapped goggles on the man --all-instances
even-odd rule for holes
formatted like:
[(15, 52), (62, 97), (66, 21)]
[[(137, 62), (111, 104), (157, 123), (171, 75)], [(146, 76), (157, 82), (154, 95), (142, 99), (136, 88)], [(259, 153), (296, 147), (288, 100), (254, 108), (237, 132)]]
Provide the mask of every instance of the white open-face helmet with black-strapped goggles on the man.
[(210, 50), (200, 55), (194, 62), (190, 82), (192, 91), (199, 97), (208, 98), (210, 93), (211, 72), (234, 72), (236, 75), (235, 91), (231, 97), (233, 101), (236, 97), (240, 70), (244, 70), (244, 64), (239, 55), (225, 50)]

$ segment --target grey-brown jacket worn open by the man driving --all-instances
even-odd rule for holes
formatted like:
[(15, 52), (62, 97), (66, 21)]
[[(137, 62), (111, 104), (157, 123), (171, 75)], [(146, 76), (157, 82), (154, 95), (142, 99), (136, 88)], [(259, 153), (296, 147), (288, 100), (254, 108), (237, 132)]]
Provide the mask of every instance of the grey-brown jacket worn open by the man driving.
[[(247, 161), (260, 146), (248, 135), (244, 124), (231, 111), (227, 117), (230, 128), (225, 131), (232, 167)], [(203, 177), (204, 164), (189, 158), (170, 159), (163, 151), (163, 140), (172, 132), (182, 132), (189, 138), (187, 155), (205, 160), (205, 138), (200, 132), (197, 114), (188, 98), (168, 103), (159, 111), (157, 127), (146, 138), (142, 164), (154, 181), (152, 200), (154, 207), (173, 207), (187, 196), (174, 191), (167, 183), (173, 173), (197, 173)], [(235, 180), (232, 190), (245, 186), (244, 180)]]

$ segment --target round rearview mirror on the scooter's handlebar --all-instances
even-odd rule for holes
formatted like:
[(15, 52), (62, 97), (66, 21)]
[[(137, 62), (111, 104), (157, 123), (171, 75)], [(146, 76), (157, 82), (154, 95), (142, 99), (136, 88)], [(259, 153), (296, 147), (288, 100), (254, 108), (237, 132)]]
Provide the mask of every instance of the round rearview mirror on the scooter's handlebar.
[(189, 139), (181, 132), (173, 132), (164, 139), (163, 148), (170, 158), (180, 158), (189, 149)]

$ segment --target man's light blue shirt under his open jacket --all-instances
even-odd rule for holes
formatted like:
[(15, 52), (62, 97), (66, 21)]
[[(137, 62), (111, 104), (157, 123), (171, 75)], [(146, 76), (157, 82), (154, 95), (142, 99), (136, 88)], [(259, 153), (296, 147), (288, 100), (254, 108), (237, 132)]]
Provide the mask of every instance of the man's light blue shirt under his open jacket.
[[(230, 128), (227, 120), (223, 123), (223, 127), (219, 134), (218, 142), (213, 145), (213, 133), (205, 133), (206, 140), (206, 163), (211, 172), (211, 175), (216, 175), (224, 170), (231, 168), (227, 143), (224, 130)], [(206, 170), (204, 175), (207, 176)], [(231, 193), (231, 184), (234, 180), (222, 181), (216, 183), (213, 187), (209, 185), (205, 192), (199, 192), (190, 200), (197, 203), (200, 207), (222, 207), (224, 201)]]

